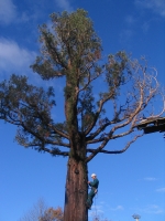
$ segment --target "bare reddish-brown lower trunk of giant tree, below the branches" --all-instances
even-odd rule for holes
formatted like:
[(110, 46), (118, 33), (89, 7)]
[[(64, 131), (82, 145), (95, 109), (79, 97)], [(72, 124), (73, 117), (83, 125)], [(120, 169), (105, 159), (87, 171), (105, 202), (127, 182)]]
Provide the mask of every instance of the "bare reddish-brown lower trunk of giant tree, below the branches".
[(88, 221), (87, 180), (87, 164), (70, 157), (67, 168), (64, 221)]

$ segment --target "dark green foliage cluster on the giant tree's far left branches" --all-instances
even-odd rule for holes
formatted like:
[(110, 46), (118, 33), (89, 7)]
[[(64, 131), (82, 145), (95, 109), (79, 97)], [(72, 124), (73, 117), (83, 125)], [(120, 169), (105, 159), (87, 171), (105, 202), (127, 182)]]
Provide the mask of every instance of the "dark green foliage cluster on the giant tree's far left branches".
[(54, 90), (45, 92), (42, 87), (28, 84), (25, 76), (11, 75), (0, 84), (0, 118), (18, 125), (18, 141), (29, 146), (29, 131), (32, 143), (38, 144), (40, 137), (47, 136), (51, 124), (51, 109), (55, 106)]

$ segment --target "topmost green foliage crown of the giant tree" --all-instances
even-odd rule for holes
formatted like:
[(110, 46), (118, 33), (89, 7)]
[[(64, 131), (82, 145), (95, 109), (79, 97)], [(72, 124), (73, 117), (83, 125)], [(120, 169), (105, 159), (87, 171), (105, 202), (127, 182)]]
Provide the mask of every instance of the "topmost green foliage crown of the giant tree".
[[(52, 29), (46, 24), (40, 27), (42, 56), (32, 65), (44, 80), (64, 75), (77, 76), (80, 69), (81, 82), (86, 76), (86, 65), (96, 60), (101, 51), (100, 40), (95, 33), (92, 22), (87, 12), (78, 9), (76, 12), (51, 14)], [(72, 69), (70, 69), (72, 65)], [(73, 72), (74, 70), (74, 72)]]

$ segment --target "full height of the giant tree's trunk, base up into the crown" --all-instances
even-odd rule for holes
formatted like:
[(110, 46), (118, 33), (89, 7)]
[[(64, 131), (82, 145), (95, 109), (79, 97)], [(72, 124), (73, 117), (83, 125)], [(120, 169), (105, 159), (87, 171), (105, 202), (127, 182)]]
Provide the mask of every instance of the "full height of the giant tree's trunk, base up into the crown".
[(76, 71), (68, 64), (66, 80), (65, 115), (69, 134), (69, 158), (65, 190), (64, 221), (88, 221), (87, 201), (87, 162), (85, 135), (78, 129), (77, 102), (78, 82)]

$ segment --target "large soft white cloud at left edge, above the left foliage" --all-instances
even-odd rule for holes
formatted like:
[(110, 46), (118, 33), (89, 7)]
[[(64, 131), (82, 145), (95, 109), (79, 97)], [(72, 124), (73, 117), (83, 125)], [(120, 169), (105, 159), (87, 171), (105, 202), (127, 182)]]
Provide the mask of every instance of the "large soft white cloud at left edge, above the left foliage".
[(3, 72), (26, 71), (34, 61), (35, 52), (20, 48), (16, 42), (0, 39), (0, 70)]

